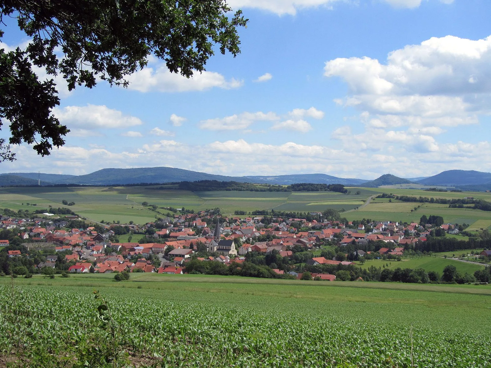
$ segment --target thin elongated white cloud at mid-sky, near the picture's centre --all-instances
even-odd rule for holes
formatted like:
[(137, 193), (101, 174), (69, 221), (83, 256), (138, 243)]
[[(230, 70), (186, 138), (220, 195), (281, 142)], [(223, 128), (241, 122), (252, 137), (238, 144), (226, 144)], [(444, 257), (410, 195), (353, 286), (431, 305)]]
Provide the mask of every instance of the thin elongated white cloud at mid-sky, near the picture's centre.
[(252, 123), (257, 121), (276, 120), (279, 120), (279, 116), (274, 112), (243, 112), (239, 115), (234, 114), (231, 116), (225, 116), (224, 118), (203, 120), (199, 123), (199, 128), (210, 131), (244, 130), (247, 129)]

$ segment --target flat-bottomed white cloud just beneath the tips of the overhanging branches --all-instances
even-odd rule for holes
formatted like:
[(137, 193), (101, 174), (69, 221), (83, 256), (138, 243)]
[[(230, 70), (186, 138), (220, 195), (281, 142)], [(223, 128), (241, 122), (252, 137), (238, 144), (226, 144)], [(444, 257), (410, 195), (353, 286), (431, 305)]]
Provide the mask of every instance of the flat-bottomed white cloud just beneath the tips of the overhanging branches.
[(191, 78), (171, 73), (163, 63), (151, 64), (127, 77), (128, 89), (139, 92), (189, 92), (204, 91), (218, 87), (224, 89), (238, 88), (242, 80), (226, 80), (217, 72), (195, 72)]

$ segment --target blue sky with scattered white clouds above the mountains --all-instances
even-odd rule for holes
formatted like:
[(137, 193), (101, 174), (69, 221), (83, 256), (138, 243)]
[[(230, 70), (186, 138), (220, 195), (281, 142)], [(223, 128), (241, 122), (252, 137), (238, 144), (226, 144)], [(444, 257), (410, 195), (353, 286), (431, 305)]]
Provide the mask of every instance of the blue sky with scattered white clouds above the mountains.
[[(172, 166), (364, 179), (491, 171), (490, 1), (229, 4), (250, 20), (236, 58), (217, 53), (191, 80), (151, 59), (127, 89), (100, 82), (68, 93), (56, 79), (66, 145), (45, 158), (16, 146), (18, 160), (0, 171)], [(1, 47), (28, 41), (14, 25), (3, 27)]]

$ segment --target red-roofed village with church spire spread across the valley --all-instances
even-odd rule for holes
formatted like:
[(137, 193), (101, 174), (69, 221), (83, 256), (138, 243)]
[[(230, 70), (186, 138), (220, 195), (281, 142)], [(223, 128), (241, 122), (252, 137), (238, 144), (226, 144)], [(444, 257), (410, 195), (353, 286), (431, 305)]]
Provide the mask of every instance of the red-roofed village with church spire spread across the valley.
[[(32, 258), (29, 254), (35, 253), (35, 259), (41, 261), (33, 264), (27, 273), (183, 274), (192, 260), (233, 264), (238, 268), (241, 263), (256, 261), (270, 267), (274, 277), (300, 279), (302, 271), (308, 268), (320, 271), (310, 272), (312, 279), (328, 281), (336, 280), (333, 268), (312, 267), (337, 266), (335, 270), (342, 270), (355, 266), (354, 261), (398, 261), (428, 237), (459, 233), (456, 224), (435, 226), (366, 219), (343, 223), (323, 219), (320, 212), (309, 213), (309, 220), (303, 217), (222, 217), (210, 210), (176, 214), (174, 218), (166, 217), (143, 226), (107, 224), (70, 228), (71, 221), (79, 221), (76, 216), (53, 220), (2, 216), (1, 228), (19, 231), (17, 236), (25, 249), (25, 254), (21, 250), (9, 250), (9, 258)], [(432, 217), (437, 216), (429, 219), (434, 220)], [(428, 220), (426, 216), (423, 219)], [(441, 217), (438, 221), (441, 222)], [(113, 241), (122, 229), (143, 233), (145, 237), (139, 242)], [(0, 240), (0, 246), (8, 244), (8, 240)], [(489, 256), (488, 253), (483, 256)], [(258, 259), (262, 261), (257, 262)]]

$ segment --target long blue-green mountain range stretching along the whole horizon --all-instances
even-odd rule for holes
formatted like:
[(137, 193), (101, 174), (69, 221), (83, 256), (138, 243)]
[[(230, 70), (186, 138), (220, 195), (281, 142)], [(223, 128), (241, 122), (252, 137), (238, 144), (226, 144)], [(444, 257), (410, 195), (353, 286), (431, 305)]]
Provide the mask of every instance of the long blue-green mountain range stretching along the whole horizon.
[(394, 184), (422, 184), (435, 186), (455, 186), (463, 190), (490, 190), (491, 173), (474, 170), (447, 170), (431, 177), (399, 178), (385, 174), (375, 180), (338, 178), (327, 174), (255, 175), (225, 176), (178, 169), (173, 167), (139, 167), (131, 169), (108, 168), (86, 175), (62, 175), (46, 173), (4, 173), (0, 174), (0, 186), (53, 184), (81, 185), (125, 185), (139, 183), (171, 183), (183, 181), (217, 180), (239, 183), (291, 185), (298, 183), (343, 184), (346, 186), (378, 187)]

